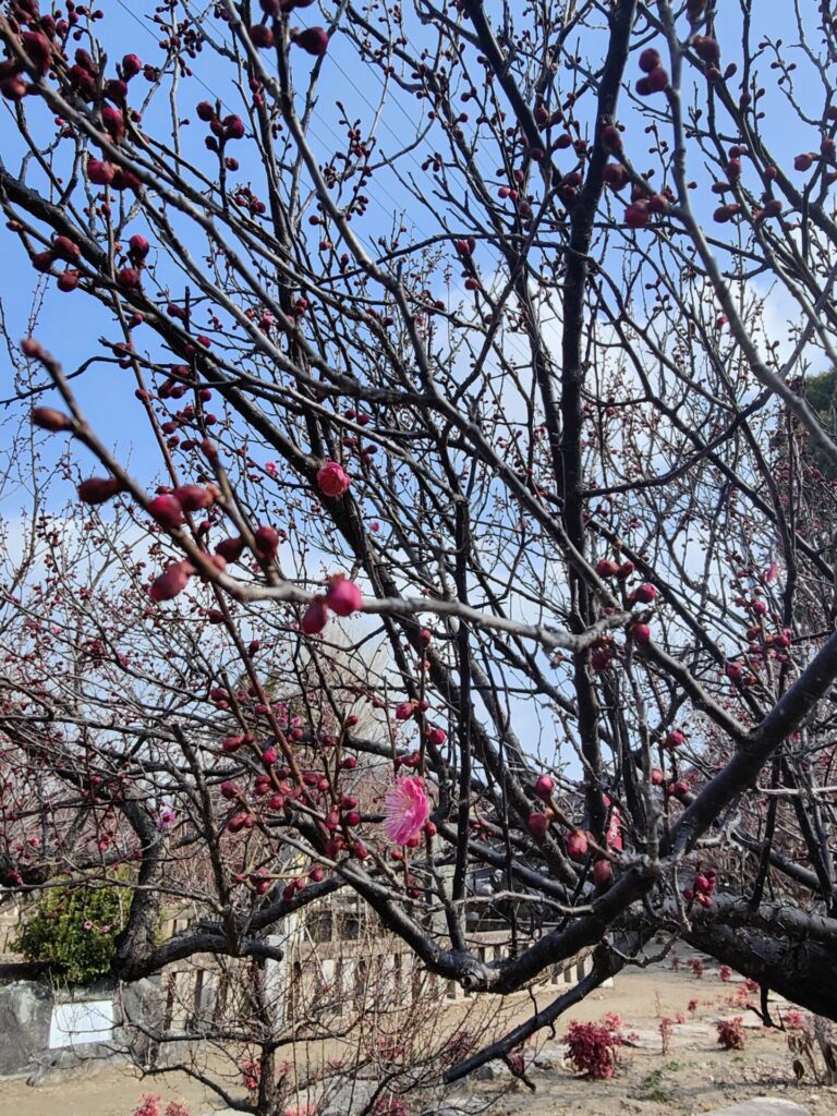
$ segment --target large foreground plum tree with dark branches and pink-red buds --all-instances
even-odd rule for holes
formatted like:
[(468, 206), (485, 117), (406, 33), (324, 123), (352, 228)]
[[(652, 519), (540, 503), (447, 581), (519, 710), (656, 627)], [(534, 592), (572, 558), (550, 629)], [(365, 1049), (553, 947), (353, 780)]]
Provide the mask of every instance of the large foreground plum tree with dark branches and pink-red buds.
[[(827, 6), (779, 33), (716, 7), (167, 2), (134, 13), (153, 45), (6, 6), (0, 194), (42, 308), (16, 398), (81, 481), (9, 584), (9, 795), (37, 806), (6, 839), (51, 827), (41, 874), (136, 858), (123, 979), (269, 956), (352, 888), (474, 991), (596, 947), (450, 1078), (660, 933), (834, 1018), (834, 564), (805, 511), (833, 481), (800, 446), (837, 462), (805, 391), (837, 364), (837, 41)], [(99, 335), (67, 373), (54, 289)], [(266, 679), (355, 612), (356, 682), (324, 667), (328, 722), (292, 724)], [(158, 944), (172, 893), (211, 918)]]

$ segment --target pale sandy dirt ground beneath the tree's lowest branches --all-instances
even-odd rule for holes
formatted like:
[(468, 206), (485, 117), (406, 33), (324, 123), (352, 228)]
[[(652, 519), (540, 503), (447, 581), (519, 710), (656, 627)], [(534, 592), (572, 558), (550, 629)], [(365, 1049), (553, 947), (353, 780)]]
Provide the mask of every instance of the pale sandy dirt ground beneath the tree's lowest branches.
[[(738, 984), (723, 983), (716, 971), (698, 980), (667, 969), (633, 971), (617, 978), (613, 989), (589, 997), (565, 1016), (555, 1039), (547, 1037), (529, 1070), (536, 1091), (519, 1081), (509, 1087), (503, 1068), (493, 1080), (461, 1083), (446, 1101), (480, 1098), (489, 1101), (487, 1116), (692, 1116), (756, 1096), (787, 1097), (811, 1116), (837, 1116), (837, 1087), (817, 1085), (810, 1071), (797, 1084), (791, 1069), (787, 1033), (763, 1029), (752, 1012), (728, 1002)], [(696, 1000), (696, 1010), (689, 1002)], [(520, 998), (520, 1018), (529, 1006)], [(546, 1002), (546, 1000), (543, 1001)], [(780, 1003), (785, 1014), (787, 1006)], [(624, 1048), (616, 1077), (590, 1081), (574, 1076), (562, 1061), (561, 1039), (573, 1019), (600, 1020), (607, 1012), (622, 1017), (626, 1031), (636, 1032)], [(674, 1019), (668, 1050), (661, 1049), (660, 1020)], [(776, 1012), (775, 1012), (776, 1013)], [(742, 1014), (743, 1051), (722, 1051), (715, 1020)], [(1, 1040), (0, 1040), (1, 1041)], [(497, 1065), (497, 1064), (494, 1064)], [(108, 1068), (60, 1085), (31, 1088), (23, 1080), (0, 1081), (0, 1116), (133, 1116), (143, 1094), (184, 1103), (191, 1116), (218, 1107), (211, 1096), (184, 1075), (141, 1079), (127, 1068)], [(416, 1112), (420, 1109), (416, 1108)]]

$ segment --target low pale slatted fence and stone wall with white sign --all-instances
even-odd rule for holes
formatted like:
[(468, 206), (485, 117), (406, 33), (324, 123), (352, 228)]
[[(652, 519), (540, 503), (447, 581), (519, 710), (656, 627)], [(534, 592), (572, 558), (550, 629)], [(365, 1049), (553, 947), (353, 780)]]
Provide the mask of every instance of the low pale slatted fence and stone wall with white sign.
[[(283, 935), (269, 940), (283, 953), (281, 961), (271, 960), (264, 966), (266, 987), (279, 1024), (304, 1020), (321, 1010), (335, 1020), (345, 1020), (352, 1013), (377, 1011), (382, 1006), (410, 1010), (430, 1000), (453, 1008), (481, 999), (463, 991), (455, 981), (430, 973), (400, 939), (375, 933), (373, 924), (358, 912), (331, 912), (328, 930), (324, 932), (323, 926), (317, 918), (308, 923), (290, 920)], [(347, 926), (349, 936), (341, 936)], [(170, 918), (162, 936), (183, 932), (189, 932), (189, 921)], [(7, 914), (0, 925), (0, 950), (7, 962), (19, 960), (10, 955), (18, 933), (17, 920)], [(468, 943), (485, 963), (501, 961), (510, 951), (508, 930), (472, 932)], [(571, 987), (589, 972), (591, 963), (590, 951), (580, 953), (545, 970), (531, 990), (549, 993), (551, 989), (557, 992)], [(235, 998), (248, 987), (247, 979), (242, 981), (246, 964), (196, 955), (138, 985), (103, 984), (73, 991), (54, 988), (45, 980), (21, 980), (19, 964), (0, 964), (0, 1032), (4, 1036), (0, 1077), (51, 1079), (50, 1074), (60, 1076), (79, 1058), (125, 1057), (133, 1045), (132, 1024), (137, 1022), (166, 1038), (183, 1036), (185, 1040), (209, 1035), (220, 1020), (234, 1018), (239, 1002)], [(144, 1057), (164, 1058), (165, 1049), (166, 1042), (146, 1042)], [(173, 1045), (171, 1049), (176, 1048)]]

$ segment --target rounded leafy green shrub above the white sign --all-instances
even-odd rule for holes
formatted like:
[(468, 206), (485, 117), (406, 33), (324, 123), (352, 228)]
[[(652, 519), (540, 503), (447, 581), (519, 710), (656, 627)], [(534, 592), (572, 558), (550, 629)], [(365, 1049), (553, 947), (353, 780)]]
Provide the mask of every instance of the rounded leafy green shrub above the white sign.
[(46, 962), (69, 984), (85, 984), (110, 969), (114, 940), (127, 903), (117, 887), (59, 885), (45, 891), (15, 949)]

